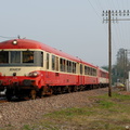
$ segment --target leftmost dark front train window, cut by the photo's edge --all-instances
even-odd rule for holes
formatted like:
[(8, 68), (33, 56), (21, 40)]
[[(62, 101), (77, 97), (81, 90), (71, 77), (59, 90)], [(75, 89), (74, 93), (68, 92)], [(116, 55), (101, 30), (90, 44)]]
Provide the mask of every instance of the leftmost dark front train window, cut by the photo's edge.
[(9, 63), (9, 52), (1, 51), (0, 52), (0, 64)]

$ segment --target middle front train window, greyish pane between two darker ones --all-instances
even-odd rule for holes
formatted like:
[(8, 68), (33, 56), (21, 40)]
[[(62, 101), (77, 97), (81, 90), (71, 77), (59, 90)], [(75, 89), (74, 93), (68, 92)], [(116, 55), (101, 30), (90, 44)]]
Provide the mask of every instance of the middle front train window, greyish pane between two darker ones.
[(11, 51), (11, 63), (21, 63), (21, 52)]

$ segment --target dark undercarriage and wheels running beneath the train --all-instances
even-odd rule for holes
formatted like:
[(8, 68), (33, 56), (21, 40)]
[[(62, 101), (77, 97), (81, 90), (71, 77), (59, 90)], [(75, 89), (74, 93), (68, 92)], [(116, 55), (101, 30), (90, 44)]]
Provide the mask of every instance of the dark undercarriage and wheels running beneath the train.
[(30, 100), (36, 100), (37, 98), (43, 98), (44, 95), (52, 94), (64, 94), (70, 92), (86, 91), (91, 89), (99, 89), (108, 87), (108, 84), (87, 84), (87, 86), (46, 86), (38, 89), (37, 87), (8, 87), (5, 88), (5, 96), (8, 101), (11, 101), (13, 96), (18, 99), (29, 98)]

